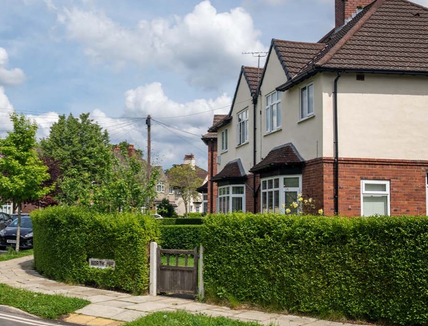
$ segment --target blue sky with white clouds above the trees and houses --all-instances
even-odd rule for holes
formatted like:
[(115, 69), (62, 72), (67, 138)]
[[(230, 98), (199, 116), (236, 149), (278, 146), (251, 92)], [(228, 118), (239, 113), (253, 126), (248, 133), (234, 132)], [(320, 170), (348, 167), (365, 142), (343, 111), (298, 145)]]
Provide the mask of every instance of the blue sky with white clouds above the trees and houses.
[(241, 52), (267, 51), (272, 38), (315, 42), (334, 23), (334, 0), (0, 3), (0, 134), (12, 109), (36, 119), (38, 137), (58, 114), (91, 112), (112, 143), (145, 151), (138, 118), (151, 114), (166, 124), (152, 126), (165, 168), (188, 153), (206, 168), (200, 135), (228, 112), (241, 65), (257, 65)]

